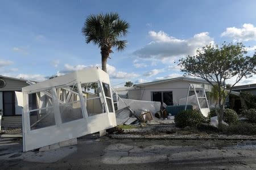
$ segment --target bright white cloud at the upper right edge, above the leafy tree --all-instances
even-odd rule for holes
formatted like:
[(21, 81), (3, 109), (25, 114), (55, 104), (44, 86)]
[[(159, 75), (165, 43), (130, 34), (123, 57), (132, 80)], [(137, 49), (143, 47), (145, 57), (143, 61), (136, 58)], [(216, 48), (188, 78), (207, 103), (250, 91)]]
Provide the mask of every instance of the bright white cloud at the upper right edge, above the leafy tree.
[(256, 27), (253, 24), (243, 24), (242, 28), (229, 27), (221, 33), (222, 37), (230, 37), (237, 41), (256, 41)]

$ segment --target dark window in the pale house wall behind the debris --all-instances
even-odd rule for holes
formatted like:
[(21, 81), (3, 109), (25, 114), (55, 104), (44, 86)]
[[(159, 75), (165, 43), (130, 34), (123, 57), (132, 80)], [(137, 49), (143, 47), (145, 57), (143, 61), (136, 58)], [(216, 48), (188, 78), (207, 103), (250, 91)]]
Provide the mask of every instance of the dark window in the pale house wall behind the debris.
[(172, 100), (172, 91), (153, 91), (151, 92), (152, 101), (160, 101), (161, 104), (174, 105)]

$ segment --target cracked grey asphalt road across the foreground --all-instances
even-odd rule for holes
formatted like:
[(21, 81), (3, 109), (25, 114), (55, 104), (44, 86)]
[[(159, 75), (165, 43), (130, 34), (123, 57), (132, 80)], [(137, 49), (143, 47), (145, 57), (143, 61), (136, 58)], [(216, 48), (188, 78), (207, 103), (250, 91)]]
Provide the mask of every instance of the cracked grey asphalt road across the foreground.
[(256, 169), (254, 141), (78, 139), (77, 146), (22, 152), (0, 139), (0, 169)]

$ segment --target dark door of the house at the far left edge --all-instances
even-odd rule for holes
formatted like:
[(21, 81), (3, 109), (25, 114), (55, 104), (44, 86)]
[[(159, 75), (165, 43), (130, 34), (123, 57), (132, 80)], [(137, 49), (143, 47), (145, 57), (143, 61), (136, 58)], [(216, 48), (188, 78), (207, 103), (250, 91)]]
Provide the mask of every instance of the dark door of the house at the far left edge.
[(14, 91), (3, 91), (3, 116), (13, 116), (15, 114)]

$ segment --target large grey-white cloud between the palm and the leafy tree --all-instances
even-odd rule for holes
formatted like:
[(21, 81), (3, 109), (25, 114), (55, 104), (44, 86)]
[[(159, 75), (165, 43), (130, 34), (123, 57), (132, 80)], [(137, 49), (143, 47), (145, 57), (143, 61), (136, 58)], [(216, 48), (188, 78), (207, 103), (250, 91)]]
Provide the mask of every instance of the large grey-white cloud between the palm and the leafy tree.
[(196, 54), (196, 49), (207, 44), (214, 44), (208, 32), (201, 32), (191, 39), (176, 39), (163, 31), (150, 31), (148, 35), (153, 41), (133, 53), (139, 58), (160, 59), (162, 62), (173, 62), (177, 57)]

